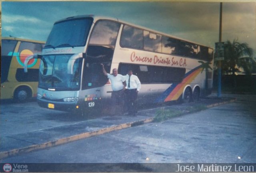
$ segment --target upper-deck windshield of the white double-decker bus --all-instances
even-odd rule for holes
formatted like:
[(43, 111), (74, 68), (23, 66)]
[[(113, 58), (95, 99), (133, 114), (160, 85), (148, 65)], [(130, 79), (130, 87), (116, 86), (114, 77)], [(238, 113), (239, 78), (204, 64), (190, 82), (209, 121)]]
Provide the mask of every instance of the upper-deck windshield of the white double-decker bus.
[(92, 18), (79, 18), (55, 23), (45, 48), (84, 46)]

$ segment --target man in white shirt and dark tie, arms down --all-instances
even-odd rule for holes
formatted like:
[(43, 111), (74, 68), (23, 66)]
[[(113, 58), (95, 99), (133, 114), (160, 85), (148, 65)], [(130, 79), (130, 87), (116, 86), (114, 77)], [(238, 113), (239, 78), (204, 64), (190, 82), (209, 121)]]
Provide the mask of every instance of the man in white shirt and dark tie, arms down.
[(126, 79), (126, 98), (128, 113), (135, 116), (137, 113), (137, 106), (135, 100), (137, 99), (138, 92), (140, 91), (140, 80), (136, 75), (132, 74), (132, 70), (128, 70), (128, 74), (124, 76)]

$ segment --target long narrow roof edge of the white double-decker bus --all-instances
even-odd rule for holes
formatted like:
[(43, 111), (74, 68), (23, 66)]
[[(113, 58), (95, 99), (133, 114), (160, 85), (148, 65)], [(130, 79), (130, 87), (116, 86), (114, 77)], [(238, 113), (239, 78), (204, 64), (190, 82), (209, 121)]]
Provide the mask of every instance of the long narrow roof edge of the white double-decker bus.
[[(145, 30), (147, 30), (147, 31), (151, 31), (151, 32), (158, 33), (158, 34), (161, 34), (161, 35), (169, 36), (169, 37), (172, 37), (172, 38), (175, 38), (175, 39), (179, 39), (179, 40), (182, 40), (182, 41), (194, 43), (194, 44), (197, 44), (197, 45), (202, 45), (201, 43), (197, 43), (197, 42), (194, 42), (194, 41), (186, 40), (186, 39), (183, 39), (183, 38), (180, 38), (180, 37), (176, 37), (176, 36), (174, 36), (174, 35), (170, 35), (170, 34), (168, 34), (168, 33), (164, 33), (164, 32), (161, 32), (161, 31), (156, 31), (156, 30), (154, 30), (154, 29), (146, 28), (146, 27), (144, 27), (144, 26), (132, 24), (132, 23), (130, 23), (130, 22), (126, 22), (126, 21), (123, 21), (123, 20), (119, 20), (118, 18), (112, 18), (112, 17), (108, 17), (108, 16), (97, 16), (97, 15), (72, 16), (72, 17), (68, 17), (68, 18), (62, 19), (62, 20), (58, 20), (58, 21), (55, 22), (55, 23), (62, 22), (62, 21), (65, 21), (65, 20), (72, 20), (72, 19), (78, 19), (78, 18), (88, 18), (88, 17), (94, 18), (95, 22), (96, 22), (97, 20), (113, 20), (113, 21), (116, 21), (116, 22), (120, 22), (121, 24), (128, 24), (128, 25), (133, 26), (133, 27), (135, 27), (135, 28), (145, 29)], [(95, 23), (95, 22), (94, 22), (94, 23)], [(205, 47), (208, 47), (208, 48), (211, 48), (211, 49), (212, 49), (212, 47), (209, 47), (209, 46), (206, 46), (206, 45), (202, 45), (202, 46), (205, 46)]]

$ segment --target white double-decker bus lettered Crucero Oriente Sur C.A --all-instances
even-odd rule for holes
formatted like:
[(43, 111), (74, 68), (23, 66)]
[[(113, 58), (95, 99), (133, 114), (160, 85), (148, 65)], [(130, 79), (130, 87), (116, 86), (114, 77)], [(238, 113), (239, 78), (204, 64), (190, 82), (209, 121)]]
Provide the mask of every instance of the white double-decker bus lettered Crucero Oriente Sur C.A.
[[(138, 102), (197, 100), (212, 89), (213, 49), (115, 18), (74, 16), (55, 22), (40, 58), (38, 104), (57, 110), (98, 109), (112, 88), (102, 72), (132, 69)], [(26, 68), (25, 68), (26, 70)]]

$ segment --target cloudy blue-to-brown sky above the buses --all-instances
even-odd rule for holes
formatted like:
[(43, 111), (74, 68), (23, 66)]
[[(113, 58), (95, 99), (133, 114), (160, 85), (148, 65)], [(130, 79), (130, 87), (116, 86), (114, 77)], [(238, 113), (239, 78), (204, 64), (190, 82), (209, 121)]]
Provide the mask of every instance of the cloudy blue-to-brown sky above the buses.
[[(109, 16), (215, 47), (219, 2), (2, 2), (2, 37), (46, 41), (54, 22), (70, 16)], [(223, 2), (222, 41), (238, 39), (256, 57), (256, 2)]]

